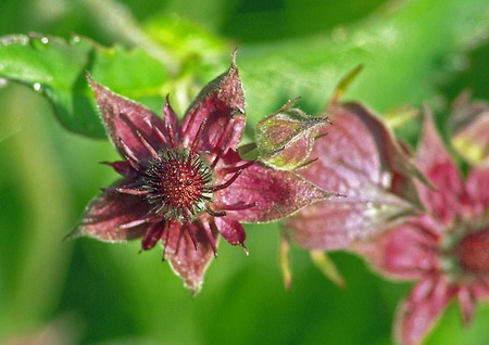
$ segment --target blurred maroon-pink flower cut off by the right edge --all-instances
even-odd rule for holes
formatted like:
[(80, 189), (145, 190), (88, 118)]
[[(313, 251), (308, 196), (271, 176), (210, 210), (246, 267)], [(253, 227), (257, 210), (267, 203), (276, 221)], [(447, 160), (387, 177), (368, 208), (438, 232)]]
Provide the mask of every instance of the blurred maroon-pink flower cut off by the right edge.
[(398, 308), (401, 344), (421, 343), (453, 297), (465, 323), (489, 297), (489, 168), (473, 168), (464, 181), (429, 116), (417, 163), (434, 186), (416, 184), (427, 214), (356, 245), (381, 274), (417, 281)]

